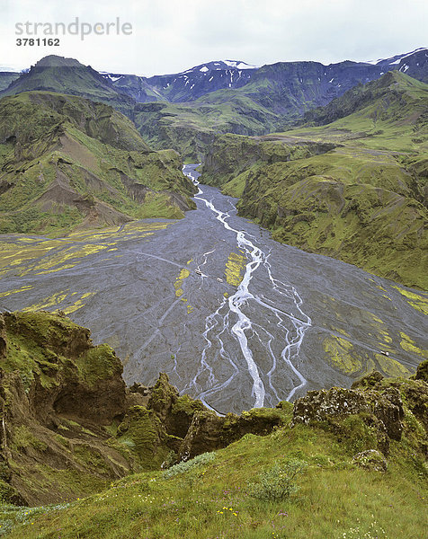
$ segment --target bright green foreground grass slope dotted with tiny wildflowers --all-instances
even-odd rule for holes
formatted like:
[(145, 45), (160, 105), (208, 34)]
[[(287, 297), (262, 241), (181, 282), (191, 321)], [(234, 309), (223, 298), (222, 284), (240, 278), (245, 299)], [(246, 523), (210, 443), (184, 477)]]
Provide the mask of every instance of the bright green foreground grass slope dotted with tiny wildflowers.
[[(399, 380), (397, 383), (401, 383)], [(388, 384), (396, 383), (392, 380)], [(387, 385), (388, 385), (387, 384)], [(405, 406), (405, 431), (393, 442), (386, 473), (363, 470), (352, 455), (370, 447), (370, 429), (349, 420), (343, 437), (325, 426), (290, 427), (268, 437), (248, 434), (168, 478), (131, 475), (108, 490), (58, 507), (0, 509), (7, 537), (208, 539), (411, 539), (426, 530), (426, 469), (412, 449), (421, 427)], [(421, 438), (422, 439), (422, 438)], [(250, 484), (272, 465), (308, 464), (290, 499), (250, 495)], [(174, 470), (174, 469), (173, 469)]]

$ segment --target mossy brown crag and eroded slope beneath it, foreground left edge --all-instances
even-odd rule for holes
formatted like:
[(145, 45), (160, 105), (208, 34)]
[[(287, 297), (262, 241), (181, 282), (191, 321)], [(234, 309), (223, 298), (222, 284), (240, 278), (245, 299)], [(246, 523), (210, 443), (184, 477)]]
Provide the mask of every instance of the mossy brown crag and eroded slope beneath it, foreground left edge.
[(126, 411), (120, 359), (88, 330), (48, 313), (2, 314), (0, 367), (4, 500), (79, 496), (134, 469), (105, 429)]

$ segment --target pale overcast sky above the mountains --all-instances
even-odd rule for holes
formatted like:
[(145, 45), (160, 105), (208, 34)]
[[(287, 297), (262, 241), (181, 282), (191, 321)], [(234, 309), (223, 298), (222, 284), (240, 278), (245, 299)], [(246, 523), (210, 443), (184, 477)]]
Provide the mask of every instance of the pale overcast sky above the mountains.
[[(22, 69), (49, 54), (95, 69), (156, 75), (210, 60), (373, 60), (428, 43), (426, 0), (0, 0), (0, 66)], [(16, 23), (116, 22), (130, 35), (58, 35), (59, 47), (18, 47)], [(86, 29), (88, 27), (86, 26)], [(102, 31), (102, 27), (97, 27)], [(129, 31), (129, 26), (126, 27)], [(111, 30), (115, 30), (111, 26)]]

